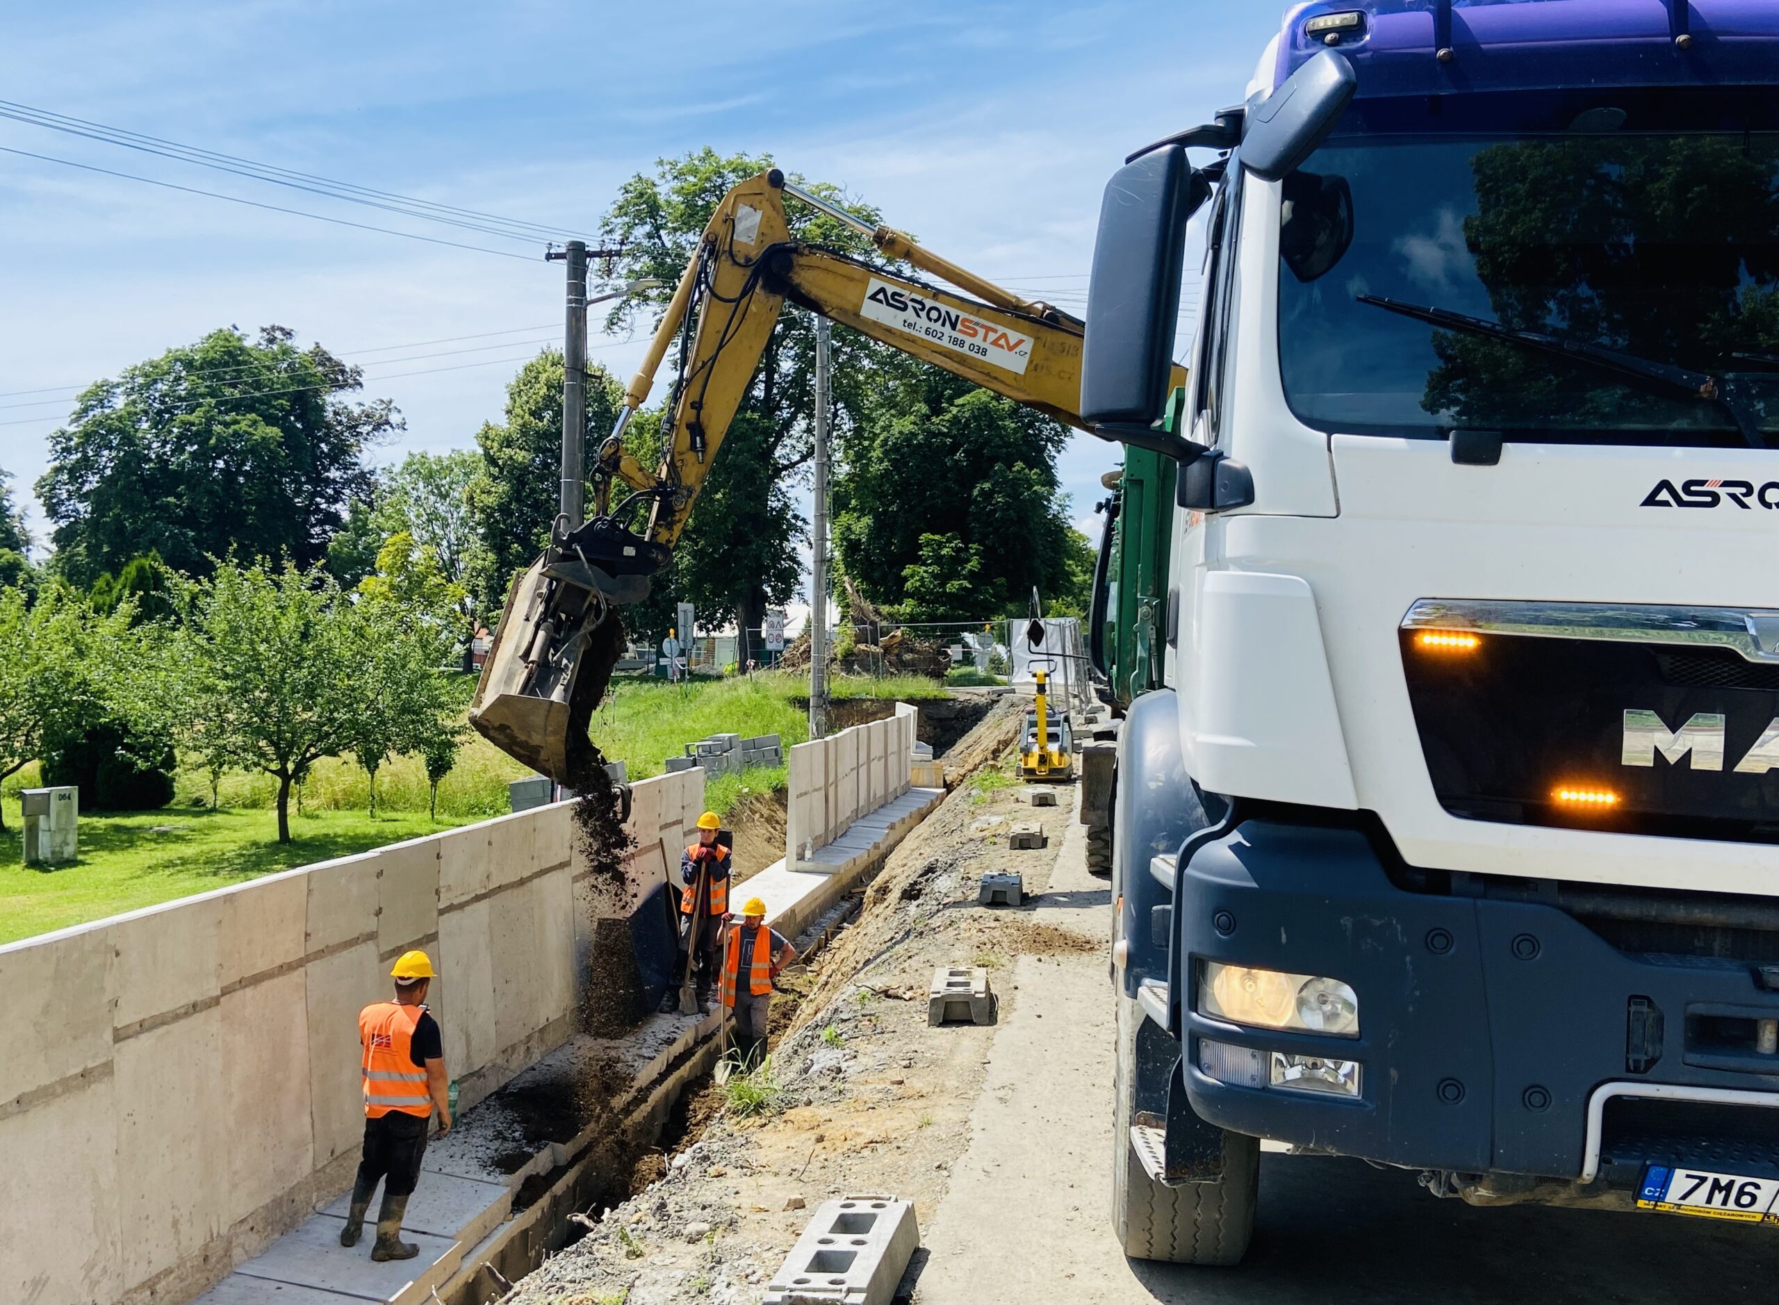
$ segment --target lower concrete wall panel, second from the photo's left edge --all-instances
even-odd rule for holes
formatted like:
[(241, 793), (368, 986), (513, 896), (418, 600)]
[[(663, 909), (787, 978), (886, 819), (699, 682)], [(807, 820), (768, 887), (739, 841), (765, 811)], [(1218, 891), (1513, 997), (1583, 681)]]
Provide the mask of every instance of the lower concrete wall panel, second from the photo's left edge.
[(123, 1280), (151, 1278), (233, 1223), (226, 1152), (251, 1140), (265, 1157), (258, 1127), (229, 1134), (219, 1109), (221, 1015), (217, 1006), (117, 1044), (117, 1225)]

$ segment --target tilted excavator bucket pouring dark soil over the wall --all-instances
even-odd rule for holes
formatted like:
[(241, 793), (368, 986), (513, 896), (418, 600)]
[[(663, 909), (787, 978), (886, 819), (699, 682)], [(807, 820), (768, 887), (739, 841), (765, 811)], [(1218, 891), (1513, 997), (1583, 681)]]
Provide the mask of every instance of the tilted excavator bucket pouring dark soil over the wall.
[(587, 722), (624, 649), (617, 608), (649, 594), (667, 551), (591, 521), (532, 562), (507, 594), (470, 724), (507, 756), (575, 789), (594, 761)]

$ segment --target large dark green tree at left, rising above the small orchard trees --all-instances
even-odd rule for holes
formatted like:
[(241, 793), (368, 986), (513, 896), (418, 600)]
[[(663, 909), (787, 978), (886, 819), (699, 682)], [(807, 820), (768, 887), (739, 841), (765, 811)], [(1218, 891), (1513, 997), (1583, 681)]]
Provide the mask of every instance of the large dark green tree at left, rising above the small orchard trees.
[(80, 395), (50, 436), (37, 496), (55, 569), (76, 585), (157, 553), (318, 562), (366, 485), (366, 446), (400, 425), (388, 400), (352, 404), (358, 368), (285, 327), (212, 331)]

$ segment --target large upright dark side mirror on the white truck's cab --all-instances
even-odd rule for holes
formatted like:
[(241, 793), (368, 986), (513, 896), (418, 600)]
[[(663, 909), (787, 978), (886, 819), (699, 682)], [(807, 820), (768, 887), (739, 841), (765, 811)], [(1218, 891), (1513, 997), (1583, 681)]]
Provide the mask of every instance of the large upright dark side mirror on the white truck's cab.
[(1082, 420), (1101, 437), (1174, 459), (1194, 444), (1155, 427), (1167, 402), (1187, 219), (1211, 187), (1162, 146), (1112, 174), (1099, 204), (1082, 345)]

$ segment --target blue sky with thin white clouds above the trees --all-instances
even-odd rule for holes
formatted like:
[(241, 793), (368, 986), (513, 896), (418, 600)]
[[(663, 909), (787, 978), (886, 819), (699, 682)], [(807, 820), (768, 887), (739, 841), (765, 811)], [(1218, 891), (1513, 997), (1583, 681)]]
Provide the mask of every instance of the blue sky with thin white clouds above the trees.
[[(1240, 100), (1281, 9), (16, 5), (0, 43), (0, 98), (580, 231), (656, 156), (704, 144), (770, 151), (870, 199), (948, 258), (1078, 309), (1107, 176), (1137, 144)], [(16, 121), (0, 119), (0, 146), (541, 254)], [(560, 304), (560, 265), (541, 260), (0, 153), (0, 468), (14, 473), (41, 539), (30, 485), (75, 389), (229, 324), (278, 322), (361, 363), (366, 395), (393, 398), (407, 420), (377, 460), (468, 446), (498, 418), (518, 364), (559, 336)], [(640, 341), (596, 336), (591, 356), (628, 377), (640, 352)], [(16, 393), (44, 388), (66, 389)], [(1064, 455), (1078, 519), (1112, 460), (1087, 436)]]

